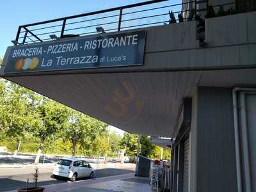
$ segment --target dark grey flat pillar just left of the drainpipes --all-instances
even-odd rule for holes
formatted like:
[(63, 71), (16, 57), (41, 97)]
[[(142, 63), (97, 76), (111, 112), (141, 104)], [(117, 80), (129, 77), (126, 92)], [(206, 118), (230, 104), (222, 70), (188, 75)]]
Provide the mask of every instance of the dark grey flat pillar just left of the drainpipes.
[(191, 123), (191, 191), (237, 191), (231, 88), (200, 87)]

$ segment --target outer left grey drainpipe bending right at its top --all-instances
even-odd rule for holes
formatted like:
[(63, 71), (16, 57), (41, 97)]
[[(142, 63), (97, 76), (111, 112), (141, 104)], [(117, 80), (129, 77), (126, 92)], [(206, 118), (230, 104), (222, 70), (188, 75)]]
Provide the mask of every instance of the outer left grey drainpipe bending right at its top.
[(241, 91), (255, 91), (256, 88), (241, 88), (236, 87), (232, 90), (233, 99), (233, 113), (234, 113), (234, 132), (235, 132), (235, 144), (236, 144), (236, 173), (237, 173), (237, 192), (242, 192), (241, 184), (241, 159), (240, 159), (240, 149), (239, 149), (239, 125), (238, 125), (238, 112), (237, 112), (237, 92)]

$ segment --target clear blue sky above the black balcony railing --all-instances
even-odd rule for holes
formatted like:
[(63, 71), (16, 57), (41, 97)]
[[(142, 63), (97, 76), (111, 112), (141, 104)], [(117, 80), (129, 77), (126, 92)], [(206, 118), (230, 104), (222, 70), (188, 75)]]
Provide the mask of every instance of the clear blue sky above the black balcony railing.
[[(174, 4), (174, 3), (179, 3), (180, 1), (181, 0), (172, 0), (166, 3)], [(93, 12), (96, 10), (104, 10), (106, 8), (112, 8), (115, 6), (122, 6), (125, 4), (132, 4), (132, 3), (139, 3), (139, 2), (142, 2), (142, 1), (139, 1), (139, 0), (2, 1), (0, 6), (0, 14), (1, 14), (0, 15), (0, 24), (1, 24), (0, 56), (4, 55), (4, 52), (6, 51), (6, 47), (12, 45), (10, 41), (15, 39), (17, 29), (22, 24), (39, 22), (42, 20), (56, 19), (58, 17), (65, 17), (69, 15), (76, 15), (79, 13)], [(166, 3), (161, 3), (157, 6), (162, 6), (162, 5), (165, 5)], [(150, 8), (151, 7), (152, 5), (150, 5)], [(167, 11), (165, 10), (165, 12)], [(154, 13), (159, 13), (159, 10), (157, 10)], [(140, 17), (140, 16), (141, 15), (133, 15), (132, 17)], [(106, 22), (106, 21), (102, 21), (102, 22)], [(107, 20), (107, 22), (111, 22), (111, 20)], [(155, 20), (152, 20), (152, 22), (155, 22)], [(129, 23), (126, 23), (126, 24), (129, 26)], [(137, 22), (136, 24), (140, 24), (140, 22)], [(130, 25), (131, 25), (131, 22), (130, 22)]]

